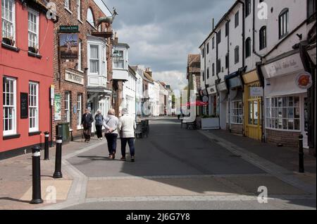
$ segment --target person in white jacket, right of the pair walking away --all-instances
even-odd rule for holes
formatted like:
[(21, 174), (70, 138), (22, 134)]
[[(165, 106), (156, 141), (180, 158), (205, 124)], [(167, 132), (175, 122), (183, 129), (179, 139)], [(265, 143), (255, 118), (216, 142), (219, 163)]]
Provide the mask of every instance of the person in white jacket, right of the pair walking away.
[(121, 139), (121, 160), (125, 161), (125, 147), (128, 143), (131, 161), (135, 162), (135, 129), (137, 128), (137, 124), (135, 118), (128, 114), (128, 109), (124, 108), (121, 113), (123, 116), (120, 117), (118, 124)]

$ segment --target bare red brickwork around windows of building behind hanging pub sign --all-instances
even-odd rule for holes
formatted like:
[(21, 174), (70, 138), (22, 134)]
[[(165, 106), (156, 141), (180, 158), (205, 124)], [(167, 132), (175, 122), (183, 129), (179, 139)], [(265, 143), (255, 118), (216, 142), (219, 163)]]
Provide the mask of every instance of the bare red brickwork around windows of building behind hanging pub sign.
[[(92, 13), (94, 15), (94, 20), (101, 16), (105, 16), (101, 9), (94, 3), (92, 0), (82, 0), (81, 1), (81, 20), (77, 19), (77, 1), (70, 1), (70, 11), (67, 11), (64, 8), (64, 0), (56, 0), (54, 1), (57, 8), (57, 16), (58, 16), (58, 23), (54, 26), (54, 86), (55, 86), (55, 93), (61, 95), (61, 121), (54, 121), (54, 107), (52, 108), (53, 113), (53, 136), (55, 141), (56, 136), (56, 124), (59, 122), (66, 121), (66, 113), (65, 113), (65, 92), (70, 92), (70, 129), (73, 129), (73, 136), (81, 136), (82, 131), (77, 130), (77, 114), (73, 113), (73, 108), (77, 106), (77, 95), (82, 95), (82, 112), (84, 112), (85, 108), (87, 107), (87, 34), (91, 34), (92, 31), (97, 31), (95, 28), (92, 27), (87, 22), (87, 10), (88, 8), (92, 9)], [(110, 15), (107, 15), (110, 16)], [(77, 83), (71, 83), (65, 81), (65, 71), (66, 69), (63, 68), (63, 63), (65, 60), (61, 60), (58, 57), (58, 29), (60, 25), (78, 25), (80, 33), (79, 38), (82, 40), (82, 70), (84, 72), (77, 71), (76, 68), (67, 69), (74, 73), (80, 74), (84, 76), (84, 85), (79, 85)], [(105, 30), (106, 26), (101, 24), (101, 29)], [(108, 28), (108, 31), (112, 31), (111, 26)], [(111, 54), (112, 54), (112, 41), (109, 37), (108, 40), (108, 52), (107, 52), (107, 67), (108, 67), (108, 80), (112, 79), (112, 61), (111, 61)], [(72, 61), (72, 60), (70, 60)], [(77, 60), (73, 60), (73, 62), (77, 63)], [(112, 89), (112, 83), (107, 83), (107, 87)]]

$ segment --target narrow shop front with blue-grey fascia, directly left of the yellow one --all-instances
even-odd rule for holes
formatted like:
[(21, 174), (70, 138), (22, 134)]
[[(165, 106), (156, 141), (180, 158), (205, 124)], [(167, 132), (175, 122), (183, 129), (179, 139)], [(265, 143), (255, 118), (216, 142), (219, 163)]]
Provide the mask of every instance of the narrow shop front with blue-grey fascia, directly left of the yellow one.
[(232, 133), (243, 134), (243, 88), (240, 71), (225, 76), (229, 90), (229, 129)]

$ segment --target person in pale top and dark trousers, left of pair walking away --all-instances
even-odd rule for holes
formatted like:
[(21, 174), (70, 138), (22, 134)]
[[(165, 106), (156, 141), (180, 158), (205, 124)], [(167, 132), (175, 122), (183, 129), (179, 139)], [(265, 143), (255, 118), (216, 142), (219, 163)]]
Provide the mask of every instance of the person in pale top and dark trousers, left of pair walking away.
[(118, 139), (118, 123), (119, 119), (116, 117), (116, 111), (111, 109), (108, 111), (108, 116), (104, 119), (104, 127), (106, 128), (106, 139), (108, 142), (108, 159), (114, 160), (116, 158), (117, 139)]

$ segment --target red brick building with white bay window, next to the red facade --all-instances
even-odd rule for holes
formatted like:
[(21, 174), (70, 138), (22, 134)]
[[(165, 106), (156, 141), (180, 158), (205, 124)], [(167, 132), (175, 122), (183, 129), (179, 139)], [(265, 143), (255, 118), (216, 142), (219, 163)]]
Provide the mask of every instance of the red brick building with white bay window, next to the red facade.
[[(106, 24), (97, 28), (95, 24), (98, 18), (111, 16), (110, 13), (105, 15), (93, 0), (58, 0), (56, 6), (55, 103), (51, 130), (54, 141), (58, 124), (69, 124), (70, 135), (80, 137), (80, 119), (85, 109), (92, 110), (92, 114), (97, 110), (106, 114), (112, 105), (112, 28), (111, 25), (107, 28)], [(78, 59), (61, 59), (58, 49), (60, 28), (73, 25), (78, 26)]]

